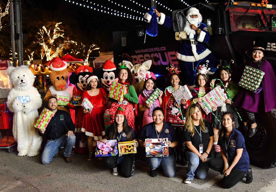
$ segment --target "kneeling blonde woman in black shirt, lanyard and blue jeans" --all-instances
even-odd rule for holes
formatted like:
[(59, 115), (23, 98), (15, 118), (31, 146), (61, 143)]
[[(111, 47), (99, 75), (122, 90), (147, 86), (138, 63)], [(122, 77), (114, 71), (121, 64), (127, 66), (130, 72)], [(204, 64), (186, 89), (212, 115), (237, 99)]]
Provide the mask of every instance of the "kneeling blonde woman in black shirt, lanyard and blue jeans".
[(201, 110), (197, 104), (191, 104), (186, 111), (185, 129), (182, 138), (185, 138), (186, 156), (189, 160), (187, 178), (184, 181), (190, 184), (195, 176), (205, 179), (209, 170), (207, 161), (211, 157), (214, 143), (214, 132), (211, 124), (202, 118)]

